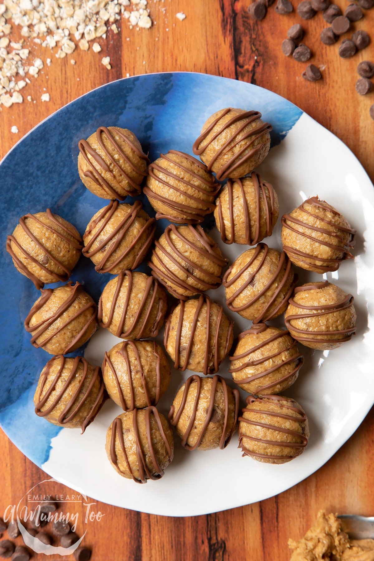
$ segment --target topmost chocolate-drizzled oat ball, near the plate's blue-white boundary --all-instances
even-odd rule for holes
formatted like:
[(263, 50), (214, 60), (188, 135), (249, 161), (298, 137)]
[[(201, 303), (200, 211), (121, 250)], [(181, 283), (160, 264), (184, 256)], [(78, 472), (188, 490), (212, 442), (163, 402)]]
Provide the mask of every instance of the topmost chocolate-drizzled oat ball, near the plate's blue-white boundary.
[(220, 109), (207, 119), (192, 151), (218, 180), (243, 177), (260, 165), (270, 149), (271, 125), (258, 111)]

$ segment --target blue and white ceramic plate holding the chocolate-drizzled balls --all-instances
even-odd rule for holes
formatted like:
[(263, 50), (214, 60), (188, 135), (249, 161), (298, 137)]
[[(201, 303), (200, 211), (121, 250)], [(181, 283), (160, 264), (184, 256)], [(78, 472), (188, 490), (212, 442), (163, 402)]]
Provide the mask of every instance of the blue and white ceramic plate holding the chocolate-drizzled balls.
[[(302, 456), (273, 466), (242, 458), (236, 435), (225, 450), (210, 452), (188, 452), (176, 436), (175, 457), (163, 479), (136, 485), (119, 476), (105, 454), (105, 433), (120, 412), (113, 402), (105, 404), (84, 435), (50, 425), (35, 415), (36, 381), (50, 356), (31, 346), (22, 325), (38, 292), (6, 254), (6, 234), (12, 233), (21, 215), (47, 207), (70, 220), (81, 234), (85, 231), (105, 201), (80, 181), (77, 144), (98, 126), (130, 128), (153, 160), (169, 149), (191, 153), (205, 119), (229, 106), (261, 111), (273, 125), (272, 148), (259, 171), (278, 193), (280, 215), (308, 196), (319, 195), (357, 228), (354, 261), (327, 274), (331, 282), (354, 295), (357, 334), (334, 351), (303, 348), (305, 364), (287, 392), (302, 404), (310, 419), (310, 444)], [(203, 74), (177, 72), (119, 80), (76, 99), (27, 134), (2, 161), (0, 185), (0, 422), (12, 442), (57, 480), (95, 499), (138, 511), (170, 516), (221, 511), (266, 499), (313, 473), (370, 410), (374, 402), (373, 186), (347, 146), (292, 103), (255, 85)], [(154, 215), (146, 199), (145, 206)], [(266, 240), (276, 249), (280, 249), (279, 222)], [(232, 262), (245, 248), (222, 244), (213, 223), (210, 217), (207, 226)], [(156, 236), (164, 227), (158, 223)], [(72, 275), (96, 301), (109, 278), (95, 273), (84, 257)], [(317, 278), (301, 271), (302, 282)], [(224, 302), (222, 288), (211, 291), (210, 296)], [(248, 328), (248, 321), (229, 310), (226, 313), (235, 320), (236, 334)], [(104, 351), (116, 342), (116, 337), (100, 329), (80, 352), (101, 364)], [(228, 361), (221, 365), (220, 374), (230, 380)], [(189, 375), (173, 371), (170, 388), (160, 402), (161, 412), (168, 412), (177, 388)]]

